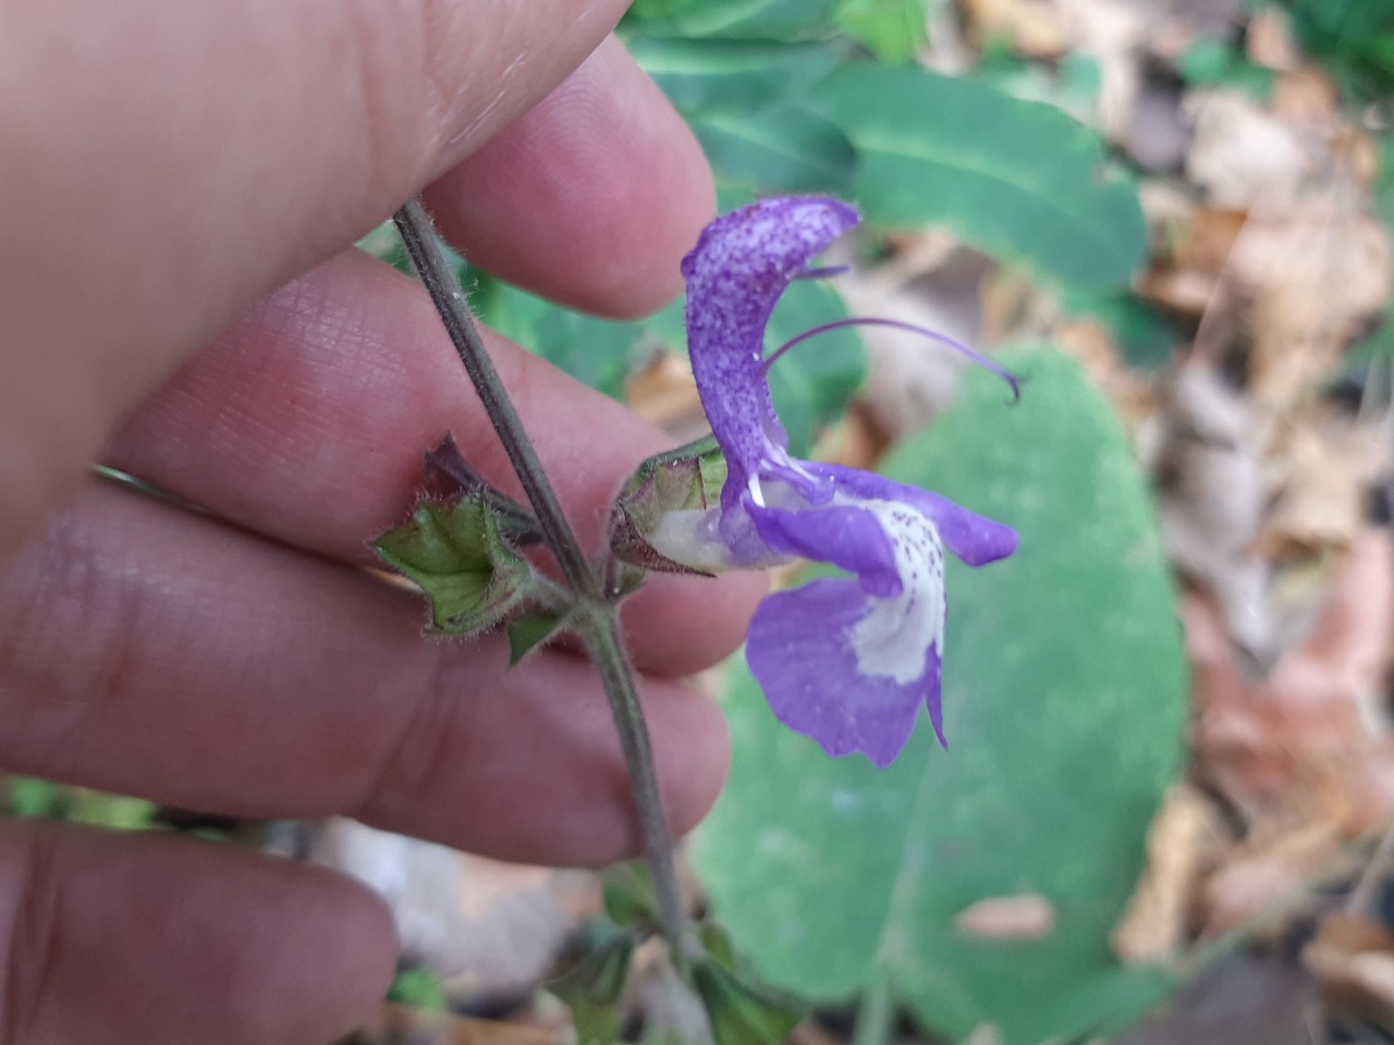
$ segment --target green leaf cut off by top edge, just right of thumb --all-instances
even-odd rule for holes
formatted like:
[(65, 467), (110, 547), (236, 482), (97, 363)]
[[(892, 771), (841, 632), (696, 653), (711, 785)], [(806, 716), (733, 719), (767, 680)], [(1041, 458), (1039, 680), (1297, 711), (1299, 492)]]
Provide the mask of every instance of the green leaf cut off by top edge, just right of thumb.
[(838, 0), (636, 0), (627, 22), (659, 36), (793, 40), (834, 31)]

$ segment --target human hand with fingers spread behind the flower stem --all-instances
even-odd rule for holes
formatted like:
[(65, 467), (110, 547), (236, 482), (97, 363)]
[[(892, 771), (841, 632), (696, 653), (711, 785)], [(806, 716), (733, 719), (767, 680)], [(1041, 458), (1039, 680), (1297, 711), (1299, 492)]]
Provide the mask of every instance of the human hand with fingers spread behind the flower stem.
[[(502, 276), (615, 315), (675, 294), (710, 174), (606, 39), (622, 7), (0, 11), (0, 765), (502, 858), (636, 851), (590, 666), (424, 642), (417, 602), (355, 568), (446, 431), (516, 488), (424, 293), (343, 249), (434, 181), (443, 231)], [(662, 438), (491, 347), (594, 546)], [(86, 485), (98, 456), (231, 525)], [(728, 755), (672, 677), (730, 651), (758, 592), (662, 578), (626, 607), (679, 830)], [(329, 874), (35, 823), (0, 826), (0, 935), (17, 1045), (304, 1045), (362, 1017), (395, 959), (382, 907)]]

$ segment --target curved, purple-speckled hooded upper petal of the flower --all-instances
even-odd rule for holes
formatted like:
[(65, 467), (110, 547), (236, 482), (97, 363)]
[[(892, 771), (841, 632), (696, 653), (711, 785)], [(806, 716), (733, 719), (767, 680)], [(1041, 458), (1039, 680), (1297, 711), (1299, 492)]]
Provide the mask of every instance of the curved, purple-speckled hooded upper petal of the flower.
[(846, 203), (781, 196), (712, 222), (683, 259), (687, 344), (711, 429), (736, 471), (754, 475), (788, 435), (761, 366), (765, 325), (790, 280), (859, 222)]

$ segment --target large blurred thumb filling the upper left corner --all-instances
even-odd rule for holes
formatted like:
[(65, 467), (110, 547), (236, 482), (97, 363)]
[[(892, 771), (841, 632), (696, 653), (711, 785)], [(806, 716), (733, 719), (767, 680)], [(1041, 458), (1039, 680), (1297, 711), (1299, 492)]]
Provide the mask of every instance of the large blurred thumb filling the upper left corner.
[(0, 13), (0, 548), (238, 308), (545, 96), (622, 0)]

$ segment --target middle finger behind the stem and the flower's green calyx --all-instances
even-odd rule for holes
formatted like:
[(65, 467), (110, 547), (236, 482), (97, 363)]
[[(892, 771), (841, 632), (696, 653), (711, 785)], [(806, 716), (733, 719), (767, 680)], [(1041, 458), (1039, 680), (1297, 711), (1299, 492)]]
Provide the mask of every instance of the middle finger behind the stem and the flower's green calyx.
[[(668, 442), (535, 355), (489, 344), (583, 546), (595, 549), (620, 483)], [(371, 562), (368, 542), (407, 514), (421, 454), (446, 432), (521, 497), (425, 294), (347, 252), (190, 361), (107, 460), (250, 529)], [(707, 667), (739, 647), (763, 592), (749, 575), (654, 578), (626, 609), (633, 653), (654, 672)]]

